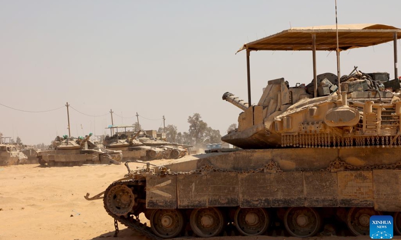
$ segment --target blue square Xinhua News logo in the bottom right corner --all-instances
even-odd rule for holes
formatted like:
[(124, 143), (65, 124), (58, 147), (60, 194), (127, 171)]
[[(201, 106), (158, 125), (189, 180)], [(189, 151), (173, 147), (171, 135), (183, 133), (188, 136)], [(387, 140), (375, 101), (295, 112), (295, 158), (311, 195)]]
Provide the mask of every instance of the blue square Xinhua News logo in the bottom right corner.
[(372, 239), (391, 239), (393, 224), (392, 216), (374, 215), (370, 216), (370, 238)]

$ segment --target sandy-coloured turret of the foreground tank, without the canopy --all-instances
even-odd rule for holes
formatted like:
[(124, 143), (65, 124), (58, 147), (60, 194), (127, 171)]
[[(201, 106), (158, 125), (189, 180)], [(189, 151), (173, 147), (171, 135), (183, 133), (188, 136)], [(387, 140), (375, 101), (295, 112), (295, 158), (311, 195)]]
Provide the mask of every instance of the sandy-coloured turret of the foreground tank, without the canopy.
[[(369, 80), (371, 85), (378, 85)], [(400, 94), (374, 88), (363, 91), (352, 88), (352, 82), (359, 84), (355, 80), (341, 83), (348, 88), (341, 95), (333, 92), (312, 97), (304, 87), (287, 87), (284, 78), (270, 80), (258, 104), (249, 108), (226, 92), (223, 99), (244, 111), (238, 118), (237, 130), (222, 140), (241, 148), (350, 147), (368, 142), (377, 146), (398, 145), (395, 138), (400, 131), (401, 103), (394, 99), (399, 99)]]

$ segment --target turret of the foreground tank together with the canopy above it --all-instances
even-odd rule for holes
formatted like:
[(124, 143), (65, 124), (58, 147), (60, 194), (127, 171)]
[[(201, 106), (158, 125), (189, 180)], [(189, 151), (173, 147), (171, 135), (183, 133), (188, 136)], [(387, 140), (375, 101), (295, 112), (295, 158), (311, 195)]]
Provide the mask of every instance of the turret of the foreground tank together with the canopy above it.
[[(291, 28), (246, 43), (239, 51), (246, 49), (249, 60), (253, 50), (335, 50), (335, 36), (335, 26)], [(339, 51), (393, 40), (394, 78), (390, 80), (387, 72), (376, 72), (380, 69), (364, 73), (357, 67), (354, 74), (341, 78), (330, 72), (315, 73), (306, 85), (289, 86), (284, 78), (278, 78), (267, 82), (254, 105), (226, 92), (223, 99), (243, 112), (238, 117), (238, 128), (222, 140), (241, 148), (400, 145), (398, 38), (401, 29), (393, 26), (339, 25)], [(315, 57), (313, 62), (316, 72)], [(248, 83), (250, 86), (249, 75)], [(248, 94), (250, 101), (250, 88)]]

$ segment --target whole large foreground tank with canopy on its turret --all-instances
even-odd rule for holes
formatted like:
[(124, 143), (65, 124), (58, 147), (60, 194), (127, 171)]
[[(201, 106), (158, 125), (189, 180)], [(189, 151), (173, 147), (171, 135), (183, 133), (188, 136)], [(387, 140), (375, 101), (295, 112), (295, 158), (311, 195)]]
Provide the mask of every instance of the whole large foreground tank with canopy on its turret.
[[(394, 39), (396, 52), (397, 38), (401, 29), (383, 24), (338, 25), (338, 31), (315, 26), (284, 30), (240, 50), (247, 51), (249, 73), (254, 50), (312, 50), (315, 55), (336, 45), (346, 50)], [(241, 113), (238, 128), (222, 140), (242, 149), (154, 165), (126, 162), (124, 178), (85, 197), (103, 199), (115, 223), (152, 239), (370, 235), (373, 215), (392, 216), (394, 232), (401, 234), (399, 80), (381, 82), (361, 71), (337, 75), (314, 73), (312, 87), (269, 80), (257, 104), (226, 92), (223, 99)], [(250, 88), (248, 94), (251, 99)]]

